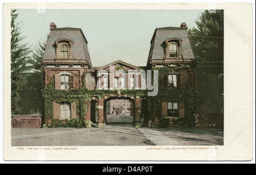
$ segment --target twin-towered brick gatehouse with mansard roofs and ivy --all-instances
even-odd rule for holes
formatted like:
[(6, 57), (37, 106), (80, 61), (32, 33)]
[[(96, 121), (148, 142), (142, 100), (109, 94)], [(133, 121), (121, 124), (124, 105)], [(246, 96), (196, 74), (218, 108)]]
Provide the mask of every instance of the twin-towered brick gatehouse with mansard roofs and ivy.
[[(51, 23), (50, 27), (40, 62), (44, 82), (44, 124), (82, 119), (87, 127), (92, 123), (104, 127), (110, 113), (108, 102), (115, 99), (129, 101), (130, 111), (133, 111), (129, 115), (134, 117), (136, 127), (152, 127), (161, 122), (176, 126), (194, 114), (195, 105), (189, 103), (186, 92), (194, 87), (196, 61), (185, 23), (181, 23), (180, 27), (155, 29), (145, 66), (117, 60), (95, 67), (90, 60), (88, 41), (80, 28), (57, 28), (55, 23)], [(114, 73), (110, 66), (114, 66)], [(97, 76), (99, 70), (106, 73)], [(129, 74), (129, 70), (137, 73)], [(142, 90), (141, 70), (159, 71), (159, 98), (150, 98)], [(123, 76), (121, 71), (127, 74)], [(110, 73), (113, 73), (113, 78), (110, 78)], [(121, 113), (118, 107), (112, 106), (112, 114)]]

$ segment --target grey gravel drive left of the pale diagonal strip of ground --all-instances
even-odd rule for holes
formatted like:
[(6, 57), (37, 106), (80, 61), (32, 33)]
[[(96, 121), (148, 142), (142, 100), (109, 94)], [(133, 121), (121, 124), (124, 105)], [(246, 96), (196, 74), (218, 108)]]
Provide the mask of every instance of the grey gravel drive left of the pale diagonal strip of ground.
[(151, 145), (131, 125), (105, 128), (12, 128), (13, 146)]

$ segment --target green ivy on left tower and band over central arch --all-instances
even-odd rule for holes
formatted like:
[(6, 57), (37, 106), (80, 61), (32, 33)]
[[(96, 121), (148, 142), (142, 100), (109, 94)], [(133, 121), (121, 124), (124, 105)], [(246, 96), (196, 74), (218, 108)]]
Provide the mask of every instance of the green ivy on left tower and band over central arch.
[[(84, 78), (84, 76), (83, 76)], [(54, 77), (49, 80), (49, 84), (42, 89), (44, 101), (43, 116), (47, 127), (86, 127), (85, 115), (87, 104), (92, 97), (105, 98), (108, 95), (127, 95), (131, 97), (143, 97), (146, 90), (87, 90), (84, 87), (73, 90), (56, 90), (54, 87)], [(120, 92), (120, 94), (118, 93)], [(59, 120), (53, 119), (53, 102), (76, 103), (77, 119)]]

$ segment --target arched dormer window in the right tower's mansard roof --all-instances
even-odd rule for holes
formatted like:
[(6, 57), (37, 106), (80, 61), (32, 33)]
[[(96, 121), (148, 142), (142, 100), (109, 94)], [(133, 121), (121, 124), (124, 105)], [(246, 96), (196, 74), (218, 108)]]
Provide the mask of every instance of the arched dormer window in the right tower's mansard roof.
[(181, 58), (181, 43), (180, 39), (166, 40), (166, 59)]

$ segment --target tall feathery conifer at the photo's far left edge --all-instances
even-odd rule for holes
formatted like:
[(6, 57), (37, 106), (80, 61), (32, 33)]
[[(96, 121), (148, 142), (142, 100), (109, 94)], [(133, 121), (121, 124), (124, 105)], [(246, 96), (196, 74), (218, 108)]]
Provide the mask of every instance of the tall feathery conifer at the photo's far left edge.
[(20, 25), (15, 20), (16, 10), (11, 10), (11, 113), (20, 113), (20, 94), (27, 83), (26, 72), (32, 68), (29, 55), (31, 50), (27, 44), (22, 44)]

